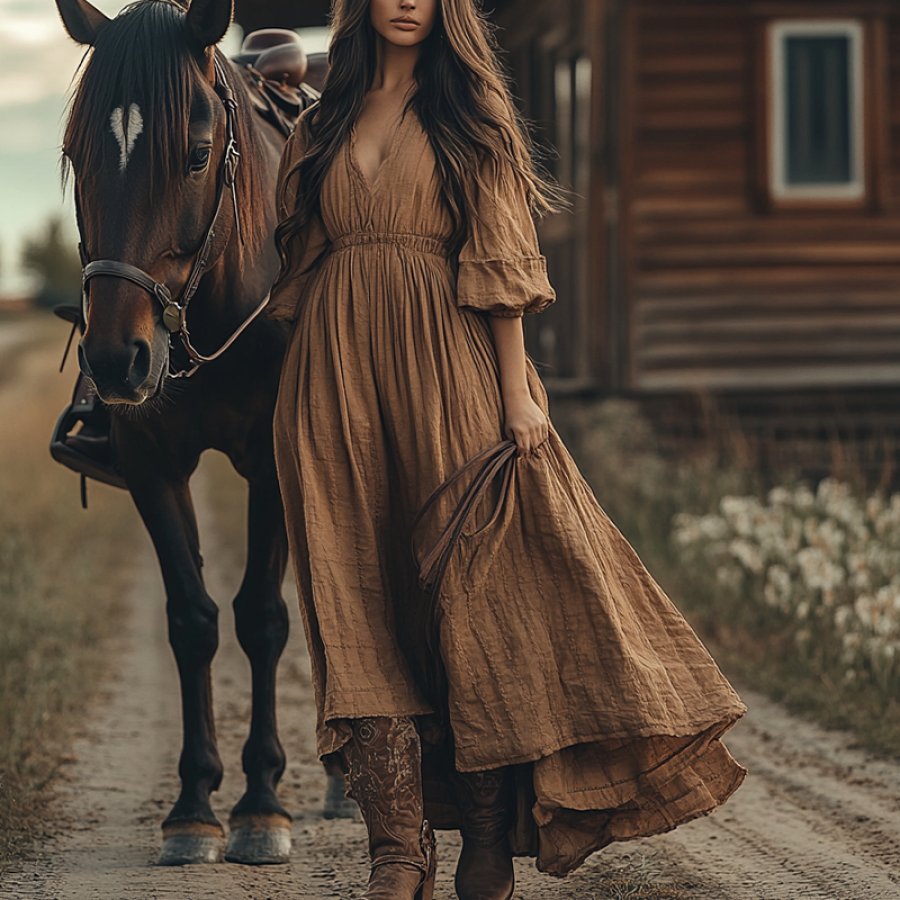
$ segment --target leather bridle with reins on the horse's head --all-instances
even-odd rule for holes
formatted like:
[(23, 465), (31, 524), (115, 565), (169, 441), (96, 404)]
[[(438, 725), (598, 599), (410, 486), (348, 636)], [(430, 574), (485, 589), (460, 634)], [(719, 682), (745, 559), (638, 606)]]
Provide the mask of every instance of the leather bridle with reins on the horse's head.
[[(155, 297), (162, 307), (162, 322), (169, 332), (169, 347), (174, 349), (173, 342), (177, 336), (181, 339), (181, 344), (190, 360), (189, 368), (173, 369), (172, 356), (170, 354), (169, 370), (166, 373), (169, 378), (189, 378), (199, 371), (204, 363), (218, 359), (218, 357), (220, 357), (235, 342), (235, 340), (237, 340), (238, 336), (263, 311), (269, 302), (269, 295), (266, 294), (259, 305), (241, 322), (231, 336), (214, 353), (204, 355), (191, 343), (191, 335), (187, 326), (188, 304), (191, 302), (191, 298), (194, 294), (196, 294), (204, 273), (209, 269), (210, 265), (216, 261), (211, 259), (211, 253), (213, 242), (216, 237), (216, 226), (218, 225), (219, 215), (222, 212), (226, 190), (231, 194), (231, 200), (234, 206), (234, 222), (238, 237), (241, 243), (244, 241), (243, 231), (241, 230), (241, 216), (237, 201), (236, 185), (237, 166), (241, 156), (235, 139), (234, 127), (235, 116), (237, 114), (237, 102), (234, 99), (234, 91), (232, 91), (231, 86), (228, 84), (224, 68), (219, 61), (219, 58), (214, 56), (213, 63), (215, 66), (215, 84), (213, 85), (213, 89), (222, 101), (222, 105), (225, 107), (225, 155), (222, 159), (222, 168), (219, 172), (219, 186), (216, 194), (215, 211), (213, 212), (212, 220), (209, 223), (209, 228), (206, 230), (206, 237), (203, 240), (200, 250), (194, 257), (191, 272), (188, 275), (187, 281), (181, 291), (181, 295), (178, 298), (173, 298), (172, 292), (165, 284), (161, 281), (156, 281), (151, 275), (143, 269), (139, 269), (137, 266), (133, 266), (126, 262), (120, 262), (115, 259), (91, 260), (90, 254), (85, 246), (84, 227), (81, 217), (81, 208), (78, 202), (78, 191), (75, 191), (75, 216), (80, 238), (78, 243), (78, 253), (81, 257), (82, 267), (81, 318), (84, 326), (87, 326), (88, 285), (92, 278), (96, 278), (98, 275), (124, 278), (127, 281), (131, 281), (139, 287), (142, 287), (152, 297)], [(227, 242), (223, 244), (219, 256), (221, 253), (225, 252), (225, 246), (227, 246)], [(218, 256), (216, 259), (218, 259)], [(74, 334), (74, 325), (72, 334)], [(69, 335), (70, 343), (72, 334)], [(68, 345), (66, 346), (66, 351), (68, 351)], [(65, 357), (63, 357), (63, 364), (65, 364)]]

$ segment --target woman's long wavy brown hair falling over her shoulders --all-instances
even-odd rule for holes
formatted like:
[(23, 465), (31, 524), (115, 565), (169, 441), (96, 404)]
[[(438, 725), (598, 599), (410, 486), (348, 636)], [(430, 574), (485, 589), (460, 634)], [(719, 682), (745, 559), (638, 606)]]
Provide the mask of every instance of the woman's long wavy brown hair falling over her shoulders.
[[(376, 65), (377, 33), (369, 18), (370, 0), (335, 0), (322, 95), (298, 127), (306, 127), (306, 153), (288, 170), (295, 184), (286, 201), (295, 211), (275, 229), (284, 274), (299, 258), (295, 246), (319, 209), (322, 182), (353, 123), (362, 111)], [(543, 215), (569, 205), (567, 192), (540, 163), (530, 126), (512, 100), (495, 26), (480, 0), (438, 0), (431, 33), (421, 44), (414, 70), (416, 90), (406, 103), (418, 116), (434, 151), (443, 202), (458, 252), (468, 233), (483, 162), (493, 162), (491, 181), (512, 178), (524, 187), (530, 209)], [(406, 109), (404, 109), (404, 112)], [(298, 178), (292, 178), (297, 173)], [(472, 173), (471, 175), (469, 173)]]

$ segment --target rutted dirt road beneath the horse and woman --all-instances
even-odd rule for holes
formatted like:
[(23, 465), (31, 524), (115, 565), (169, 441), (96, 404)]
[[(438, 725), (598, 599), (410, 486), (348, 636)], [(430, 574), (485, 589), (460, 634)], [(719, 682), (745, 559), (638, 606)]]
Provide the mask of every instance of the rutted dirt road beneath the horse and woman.
[[(213, 471), (220, 477), (221, 466)], [(214, 806), (225, 821), (241, 789), (249, 677), (230, 612), (240, 560), (225, 552), (224, 526), (203, 499), (215, 482), (207, 463), (201, 476), (205, 569), (221, 606), (214, 679), (226, 776)], [(280, 670), (279, 715), (289, 755), (282, 795), (296, 814), (292, 862), (261, 869), (153, 865), (159, 823), (176, 795), (180, 722), (162, 584), (149, 540), (135, 553), (133, 576), (127, 634), (116, 648), (118, 670), (65, 766), (57, 833), (39, 859), (0, 885), (0, 897), (355, 896), (367, 871), (364, 828), (319, 816), (325, 779), (314, 756), (305, 645), (290, 592), (293, 630)], [(848, 736), (798, 721), (753, 692), (741, 693), (750, 713), (727, 743), (750, 774), (725, 806), (667, 835), (595, 854), (564, 881), (540, 876), (530, 860), (518, 860), (517, 897), (900, 897), (900, 766), (851, 749)], [(454, 897), (457, 851), (455, 837), (440, 833), (438, 898)]]

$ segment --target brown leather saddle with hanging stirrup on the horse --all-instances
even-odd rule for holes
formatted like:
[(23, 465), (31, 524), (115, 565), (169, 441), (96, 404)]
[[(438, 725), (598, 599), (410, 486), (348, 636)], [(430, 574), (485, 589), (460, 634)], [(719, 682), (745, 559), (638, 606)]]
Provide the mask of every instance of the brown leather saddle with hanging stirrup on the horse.
[[(249, 88), (253, 109), (285, 137), (290, 136), (300, 113), (319, 99), (319, 91), (304, 82), (309, 62), (300, 38), (293, 31), (284, 28), (252, 31), (231, 61)], [(75, 329), (84, 334), (85, 323), (78, 306), (57, 306), (54, 312), (72, 325), (60, 366), (62, 371)], [(87, 478), (127, 488), (110, 440), (109, 410), (97, 396), (93, 382), (81, 372), (75, 381), (72, 400), (53, 428), (50, 455), (81, 476), (81, 505), (85, 509)]]

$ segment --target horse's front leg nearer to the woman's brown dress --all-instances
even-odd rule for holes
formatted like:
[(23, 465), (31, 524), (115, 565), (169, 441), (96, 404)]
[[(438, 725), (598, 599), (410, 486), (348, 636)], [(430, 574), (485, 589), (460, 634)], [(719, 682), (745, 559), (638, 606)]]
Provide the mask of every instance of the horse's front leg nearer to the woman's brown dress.
[(244, 796), (231, 811), (225, 850), (229, 862), (262, 865), (287, 862), (291, 816), (276, 788), (285, 756), (275, 716), (275, 675), (288, 635), (281, 584), (287, 566), (287, 537), (275, 471), (250, 478), (247, 567), (234, 598), (237, 637), (250, 660), (253, 709), (242, 761)]

